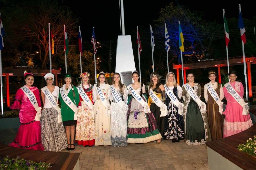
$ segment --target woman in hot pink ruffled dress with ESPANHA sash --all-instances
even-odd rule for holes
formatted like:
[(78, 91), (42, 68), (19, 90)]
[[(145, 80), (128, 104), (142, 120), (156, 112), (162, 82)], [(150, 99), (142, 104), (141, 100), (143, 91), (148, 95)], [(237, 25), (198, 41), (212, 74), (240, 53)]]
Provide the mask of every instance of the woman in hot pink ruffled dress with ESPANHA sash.
[[(37, 87), (32, 86), (33, 83), (33, 74), (28, 71), (25, 73), (25, 83), (23, 87), (27, 87), (33, 92), (38, 103), (38, 107), (41, 107), (39, 90)], [(34, 120), (37, 111), (21, 88), (17, 90), (15, 102), (10, 106), (10, 108), (20, 109), (20, 127), (14, 141), (10, 143), (9, 146), (22, 149), (44, 150), (41, 142), (40, 121)]]

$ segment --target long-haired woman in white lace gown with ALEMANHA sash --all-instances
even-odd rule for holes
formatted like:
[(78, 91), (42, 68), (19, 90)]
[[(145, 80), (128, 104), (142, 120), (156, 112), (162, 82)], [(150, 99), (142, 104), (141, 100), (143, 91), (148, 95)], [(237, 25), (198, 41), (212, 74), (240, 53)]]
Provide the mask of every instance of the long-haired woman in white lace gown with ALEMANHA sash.
[[(126, 112), (123, 110), (127, 100), (126, 86), (121, 83), (120, 74), (114, 73), (112, 85), (110, 86), (111, 95), (111, 141), (112, 146), (127, 146), (127, 126)], [(117, 96), (114, 97), (113, 95)], [(116, 101), (117, 99), (118, 101)], [(120, 102), (120, 103), (118, 103)], [(121, 107), (120, 107), (121, 106)]]

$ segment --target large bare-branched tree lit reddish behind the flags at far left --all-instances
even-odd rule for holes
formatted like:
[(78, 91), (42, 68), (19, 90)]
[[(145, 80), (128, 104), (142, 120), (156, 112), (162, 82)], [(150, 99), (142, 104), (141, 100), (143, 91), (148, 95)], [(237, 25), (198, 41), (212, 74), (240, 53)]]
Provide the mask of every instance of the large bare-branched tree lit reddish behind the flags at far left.
[(17, 55), (20, 51), (38, 51), (34, 63), (41, 68), (45, 68), (49, 61), (48, 23), (51, 23), (54, 37), (55, 54), (51, 57), (64, 55), (64, 24), (69, 39), (78, 35), (79, 19), (73, 15), (69, 7), (60, 6), (56, 0), (37, 0), (33, 3), (30, 0), (13, 0), (5, 6), (8, 7), (3, 8), (3, 13), (5, 16), (9, 13), (10, 23), (7, 27), (11, 28), (6, 29), (10, 30), (8, 35), (11, 34), (9, 44), (12, 45), (11, 49), (15, 49), (11, 53)]

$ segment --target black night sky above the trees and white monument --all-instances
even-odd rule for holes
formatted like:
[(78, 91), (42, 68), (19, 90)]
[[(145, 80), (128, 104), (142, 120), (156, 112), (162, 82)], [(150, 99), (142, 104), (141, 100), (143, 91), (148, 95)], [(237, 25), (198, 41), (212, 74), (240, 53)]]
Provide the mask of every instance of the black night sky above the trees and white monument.
[[(251, 18), (256, 13), (254, 5), (247, 0), (232, 3), (223, 0), (203, 1), (201, 3), (185, 0), (123, 0), (125, 35), (131, 35), (132, 30), (136, 30), (136, 26), (152, 24), (151, 21), (158, 18), (160, 9), (171, 2), (174, 2), (174, 5), (188, 6), (191, 11), (202, 11), (205, 13), (204, 19), (216, 20), (220, 23), (223, 23), (223, 9), (225, 9), (227, 19), (238, 18), (239, 3), (243, 18)], [(64, 0), (64, 3), (70, 6), (73, 12), (81, 18), (79, 26), (83, 41), (90, 41), (92, 27), (95, 29), (97, 41), (116, 41), (118, 35), (121, 35), (119, 0), (84, 1), (83, 4), (85, 5), (80, 5), (78, 0), (72, 0), (72, 4), (70, 1)]]

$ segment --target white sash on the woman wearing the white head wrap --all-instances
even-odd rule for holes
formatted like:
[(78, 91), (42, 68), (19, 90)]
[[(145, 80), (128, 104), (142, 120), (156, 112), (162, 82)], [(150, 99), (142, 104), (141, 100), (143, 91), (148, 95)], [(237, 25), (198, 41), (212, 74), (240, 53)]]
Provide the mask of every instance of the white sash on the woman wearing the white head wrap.
[[(48, 101), (50, 102), (51, 106), (57, 110), (58, 112), (58, 123), (62, 122), (61, 119), (61, 109), (59, 108), (57, 101), (55, 100), (54, 96), (52, 95), (52, 93), (49, 91), (49, 89), (45, 86), (43, 88), (41, 88), (42, 92), (44, 93), (44, 96), (48, 99)], [(58, 96), (57, 96), (58, 99)]]

